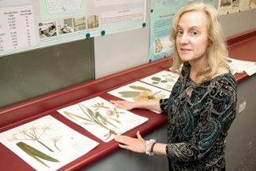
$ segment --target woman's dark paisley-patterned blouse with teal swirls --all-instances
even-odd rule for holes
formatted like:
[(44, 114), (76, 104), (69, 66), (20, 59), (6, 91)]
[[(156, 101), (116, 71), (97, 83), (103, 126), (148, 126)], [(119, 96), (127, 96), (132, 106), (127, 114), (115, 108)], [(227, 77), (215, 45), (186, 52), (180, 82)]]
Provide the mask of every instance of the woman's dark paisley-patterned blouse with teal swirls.
[(160, 100), (169, 116), (169, 170), (223, 170), (224, 139), (236, 118), (236, 80), (227, 73), (195, 88), (190, 68), (184, 64), (184, 79), (177, 80), (169, 99)]

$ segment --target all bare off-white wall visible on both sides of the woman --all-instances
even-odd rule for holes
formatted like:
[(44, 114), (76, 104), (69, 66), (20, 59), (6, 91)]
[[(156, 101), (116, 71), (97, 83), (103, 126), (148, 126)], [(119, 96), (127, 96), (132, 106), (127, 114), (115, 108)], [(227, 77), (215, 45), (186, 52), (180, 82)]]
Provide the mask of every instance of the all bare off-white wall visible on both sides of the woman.
[[(95, 77), (101, 78), (148, 63), (150, 44), (150, 3), (147, 27), (95, 37)], [(256, 29), (256, 9), (221, 16), (225, 37)]]

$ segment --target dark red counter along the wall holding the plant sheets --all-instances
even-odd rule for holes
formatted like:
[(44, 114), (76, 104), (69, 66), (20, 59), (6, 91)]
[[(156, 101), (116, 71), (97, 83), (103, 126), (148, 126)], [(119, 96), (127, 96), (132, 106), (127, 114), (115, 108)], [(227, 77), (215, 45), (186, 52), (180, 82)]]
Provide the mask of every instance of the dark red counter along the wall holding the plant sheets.
[[(228, 45), (231, 58), (256, 61), (256, 31), (250, 31), (242, 35), (228, 38)], [(81, 170), (87, 168), (94, 163), (97, 164), (96, 162), (113, 154), (115, 151), (119, 151), (120, 148), (118, 147), (118, 144), (114, 140), (111, 140), (109, 143), (99, 140), (97, 137), (87, 132), (87, 130), (77, 126), (75, 123), (60, 115), (57, 110), (72, 104), (77, 104), (83, 100), (91, 99), (95, 96), (100, 96), (106, 100), (119, 100), (119, 98), (112, 96), (107, 92), (116, 89), (119, 86), (124, 86), (130, 82), (135, 82), (141, 78), (153, 75), (159, 71), (168, 70), (170, 65), (171, 57), (166, 57), (149, 64), (143, 64), (139, 67), (118, 72), (114, 75), (98, 78), (78, 86), (62, 89), (61, 91), (50, 93), (46, 96), (40, 96), (33, 100), (2, 108), (0, 109), (0, 133), (45, 115), (51, 115), (65, 123), (65, 125), (99, 143), (95, 149), (89, 151), (86, 155), (77, 158), (75, 161), (70, 162), (59, 170)], [(235, 77), (236, 81), (239, 83), (243, 82), (243, 80), (247, 79), (249, 76), (243, 73), (236, 74)], [(140, 131), (142, 136), (146, 136), (155, 129), (165, 126), (167, 122), (166, 115), (156, 114), (152, 111), (141, 109), (134, 109), (132, 112), (147, 117), (149, 120), (143, 125), (124, 133), (124, 135), (127, 136), (135, 137), (137, 130)], [(0, 144), (0, 151), (2, 170), (34, 170), (24, 162), (23, 159), (19, 158), (12, 151), (9, 151), (3, 144)]]

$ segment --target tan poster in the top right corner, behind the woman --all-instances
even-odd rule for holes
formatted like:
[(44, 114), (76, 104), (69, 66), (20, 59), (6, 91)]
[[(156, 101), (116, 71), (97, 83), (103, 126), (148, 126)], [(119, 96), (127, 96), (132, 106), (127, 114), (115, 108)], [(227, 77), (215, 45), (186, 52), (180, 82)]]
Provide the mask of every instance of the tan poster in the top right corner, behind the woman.
[(219, 0), (217, 10), (220, 15), (239, 13), (241, 11), (255, 9), (256, 0)]

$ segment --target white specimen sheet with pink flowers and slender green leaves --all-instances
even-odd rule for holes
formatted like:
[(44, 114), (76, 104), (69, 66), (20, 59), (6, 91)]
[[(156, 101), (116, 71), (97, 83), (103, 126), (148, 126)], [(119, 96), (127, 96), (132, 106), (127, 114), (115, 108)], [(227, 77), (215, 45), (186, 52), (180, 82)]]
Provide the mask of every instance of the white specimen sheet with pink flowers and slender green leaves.
[(117, 108), (99, 96), (61, 108), (58, 112), (106, 143), (148, 120)]

